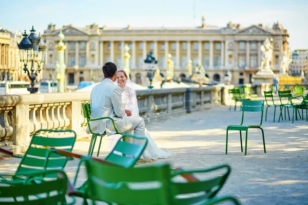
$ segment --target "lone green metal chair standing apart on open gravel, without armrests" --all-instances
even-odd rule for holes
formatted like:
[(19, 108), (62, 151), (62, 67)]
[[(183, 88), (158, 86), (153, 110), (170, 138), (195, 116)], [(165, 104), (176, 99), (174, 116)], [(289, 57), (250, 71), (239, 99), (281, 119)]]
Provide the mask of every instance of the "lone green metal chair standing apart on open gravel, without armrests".
[[(228, 131), (229, 130), (238, 130), (240, 131), (240, 140), (241, 140), (241, 151), (243, 152), (243, 145), (242, 145), (242, 131), (246, 131), (246, 138), (245, 138), (245, 156), (247, 154), (247, 134), (248, 134), (248, 129), (249, 128), (258, 128), (262, 131), (262, 138), (263, 138), (263, 148), (264, 148), (264, 153), (266, 153), (265, 150), (265, 140), (264, 140), (264, 131), (261, 128), (262, 126), (262, 121), (263, 121), (263, 109), (264, 109), (264, 100), (244, 100), (242, 102), (242, 121), (240, 125), (229, 125), (227, 127), (227, 134), (226, 134), (226, 154), (228, 150)], [(244, 113), (245, 112), (261, 112), (261, 120), (260, 120), (260, 125), (248, 125), (244, 126)]]

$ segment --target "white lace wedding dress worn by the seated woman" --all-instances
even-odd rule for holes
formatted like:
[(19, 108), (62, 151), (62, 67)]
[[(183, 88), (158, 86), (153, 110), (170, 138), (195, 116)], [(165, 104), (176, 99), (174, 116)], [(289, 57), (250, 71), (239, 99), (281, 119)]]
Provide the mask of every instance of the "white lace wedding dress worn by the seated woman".
[[(128, 86), (122, 88), (122, 104), (125, 107), (125, 110), (130, 110), (132, 112), (132, 116), (139, 116), (136, 91), (133, 88)], [(168, 158), (169, 156), (176, 155), (176, 153), (174, 152), (158, 148), (155, 141), (152, 139), (150, 133), (146, 128), (145, 128), (145, 137), (148, 139), (147, 146), (144, 152), (142, 153), (142, 156), (145, 159), (164, 159)]]

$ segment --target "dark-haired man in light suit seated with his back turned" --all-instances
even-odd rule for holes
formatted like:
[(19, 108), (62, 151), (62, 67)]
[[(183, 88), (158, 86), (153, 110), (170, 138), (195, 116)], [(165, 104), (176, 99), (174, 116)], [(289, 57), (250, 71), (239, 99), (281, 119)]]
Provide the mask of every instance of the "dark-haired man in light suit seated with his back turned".
[[(124, 110), (121, 100), (121, 88), (114, 85), (117, 79), (117, 66), (107, 62), (103, 66), (105, 79), (92, 89), (90, 96), (91, 118), (111, 117), (115, 126), (122, 133), (134, 130), (135, 135), (145, 136), (145, 125), (142, 117), (131, 116), (129, 110)], [(111, 120), (90, 121), (93, 132), (107, 136), (115, 134)]]

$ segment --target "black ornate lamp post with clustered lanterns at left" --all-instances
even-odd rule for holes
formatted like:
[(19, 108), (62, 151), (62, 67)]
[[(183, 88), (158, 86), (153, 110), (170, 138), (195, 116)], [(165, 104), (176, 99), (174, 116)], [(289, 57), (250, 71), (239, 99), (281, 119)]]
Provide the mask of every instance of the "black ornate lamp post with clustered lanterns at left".
[[(20, 61), (24, 63), (24, 71), (27, 73), (31, 83), (31, 87), (28, 87), (28, 91), (30, 93), (35, 93), (38, 88), (35, 88), (34, 80), (37, 77), (37, 72), (40, 73), (42, 70), (41, 67), (45, 63), (45, 52), (46, 52), (46, 44), (44, 43), (44, 40), (41, 39), (40, 35), (35, 34), (35, 30), (32, 26), (32, 29), (30, 30), (30, 35), (25, 33), (23, 34), (22, 41), (17, 44), (18, 49), (20, 51)], [(38, 55), (41, 54), (41, 57), (39, 58)], [(30, 71), (27, 68), (28, 63), (31, 63)], [(35, 66), (36, 64), (36, 66)], [(43, 65), (42, 65), (43, 64)], [(36, 69), (34, 68), (36, 67)]]

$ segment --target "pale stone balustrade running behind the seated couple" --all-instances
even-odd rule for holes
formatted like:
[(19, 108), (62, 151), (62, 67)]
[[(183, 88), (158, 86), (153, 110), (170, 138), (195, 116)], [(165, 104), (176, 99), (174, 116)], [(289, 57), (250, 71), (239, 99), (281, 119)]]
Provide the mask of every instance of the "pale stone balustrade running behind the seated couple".
[[(221, 104), (222, 90), (220, 86), (138, 90), (139, 112), (148, 122), (208, 109)], [(81, 105), (89, 103), (89, 99), (89, 92), (0, 96), (0, 146), (21, 152), (27, 148), (31, 135), (40, 129), (72, 129), (78, 137), (87, 135)]]

